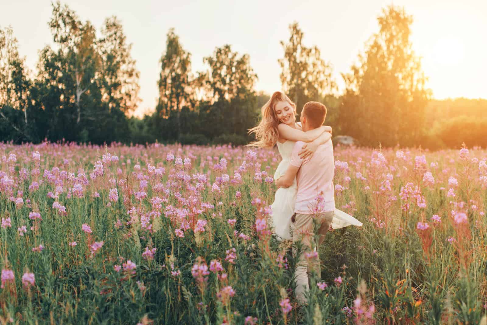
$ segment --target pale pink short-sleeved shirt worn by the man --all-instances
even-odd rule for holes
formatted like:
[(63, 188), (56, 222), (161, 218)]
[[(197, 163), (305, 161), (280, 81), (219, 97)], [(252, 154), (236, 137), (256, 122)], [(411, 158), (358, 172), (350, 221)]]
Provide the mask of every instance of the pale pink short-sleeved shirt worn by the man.
[(316, 149), (313, 157), (303, 162), (298, 152), (304, 142), (298, 141), (293, 148), (290, 164), (300, 167), (297, 175), (298, 196), (294, 212), (300, 214), (311, 214), (313, 207), (316, 207), (316, 197), (323, 191), (324, 208), (322, 212), (335, 210), (335, 191), (333, 187), (333, 175), (335, 174), (335, 163), (333, 160), (333, 144), (327, 141)]

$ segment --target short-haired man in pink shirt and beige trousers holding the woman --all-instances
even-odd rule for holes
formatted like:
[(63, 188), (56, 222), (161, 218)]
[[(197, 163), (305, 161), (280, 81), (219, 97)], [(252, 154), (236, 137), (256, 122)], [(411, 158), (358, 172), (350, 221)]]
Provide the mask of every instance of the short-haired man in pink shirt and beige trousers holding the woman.
[[(318, 102), (308, 102), (304, 105), (300, 120), (303, 131), (315, 129), (323, 124), (326, 117), (326, 107)], [(331, 137), (331, 134), (330, 134)], [(286, 173), (276, 181), (279, 187), (289, 187), (295, 177), (298, 182), (298, 194), (294, 215), (291, 219), (293, 230), (293, 244), (301, 241), (303, 252), (300, 255), (296, 267), (296, 297), (301, 303), (306, 303), (305, 292), (309, 289), (308, 284), (308, 260), (310, 271), (316, 271), (321, 276), (319, 255), (310, 254), (313, 241), (313, 220), (316, 219), (319, 225), (319, 241), (315, 248), (323, 241), (328, 228), (333, 220), (335, 210), (335, 193), (333, 187), (333, 175), (335, 166), (333, 161), (333, 144), (327, 141), (316, 149), (313, 157), (303, 161), (298, 153), (303, 142), (298, 141), (294, 145), (291, 155), (291, 162)], [(319, 211), (317, 208), (317, 197), (320, 195)], [(308, 257), (306, 257), (308, 253)], [(311, 257), (310, 257), (311, 256)]]

